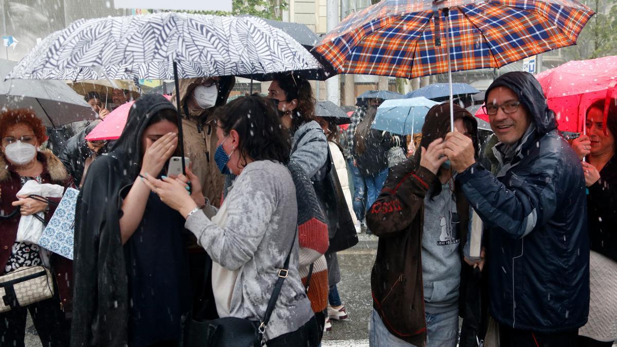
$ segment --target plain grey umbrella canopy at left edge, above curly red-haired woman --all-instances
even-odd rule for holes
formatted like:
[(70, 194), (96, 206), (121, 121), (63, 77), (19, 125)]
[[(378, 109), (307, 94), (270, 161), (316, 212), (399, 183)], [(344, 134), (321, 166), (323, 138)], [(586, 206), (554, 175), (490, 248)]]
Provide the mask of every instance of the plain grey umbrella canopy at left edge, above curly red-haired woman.
[[(0, 75), (6, 76), (14, 66), (15, 62), (0, 59)], [(46, 127), (98, 117), (82, 96), (60, 81), (0, 82), (0, 104), (2, 111), (32, 109)]]

